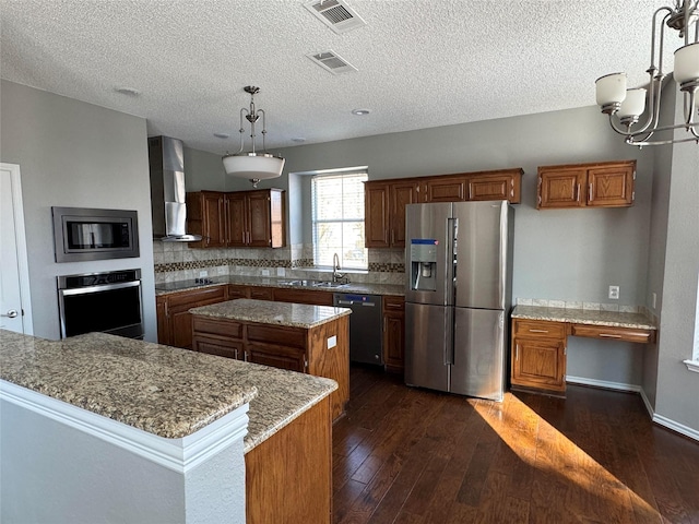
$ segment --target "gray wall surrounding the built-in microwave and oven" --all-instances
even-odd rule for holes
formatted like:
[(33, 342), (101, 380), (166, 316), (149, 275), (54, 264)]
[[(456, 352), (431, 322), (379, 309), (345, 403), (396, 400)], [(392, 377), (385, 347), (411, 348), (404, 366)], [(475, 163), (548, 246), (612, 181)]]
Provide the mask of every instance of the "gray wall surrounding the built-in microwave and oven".
[[(59, 338), (56, 276), (140, 267), (145, 336), (156, 340), (145, 120), (2, 81), (0, 159), (19, 164), (34, 334)], [(139, 212), (138, 259), (58, 264), (51, 206)]]

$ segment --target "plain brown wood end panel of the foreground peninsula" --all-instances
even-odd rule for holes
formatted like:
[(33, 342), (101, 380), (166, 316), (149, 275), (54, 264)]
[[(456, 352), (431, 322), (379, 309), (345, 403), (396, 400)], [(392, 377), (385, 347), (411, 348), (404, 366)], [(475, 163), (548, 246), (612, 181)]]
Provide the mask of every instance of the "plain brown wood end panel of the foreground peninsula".
[(330, 397), (245, 455), (247, 524), (332, 522)]

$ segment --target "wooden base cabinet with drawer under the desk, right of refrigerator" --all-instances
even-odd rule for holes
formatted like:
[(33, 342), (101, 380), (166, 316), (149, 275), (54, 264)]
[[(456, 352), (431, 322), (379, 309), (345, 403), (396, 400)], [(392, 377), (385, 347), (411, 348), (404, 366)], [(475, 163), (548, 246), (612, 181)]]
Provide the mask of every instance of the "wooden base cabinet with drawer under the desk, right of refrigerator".
[(512, 320), (512, 386), (566, 391), (567, 324)]

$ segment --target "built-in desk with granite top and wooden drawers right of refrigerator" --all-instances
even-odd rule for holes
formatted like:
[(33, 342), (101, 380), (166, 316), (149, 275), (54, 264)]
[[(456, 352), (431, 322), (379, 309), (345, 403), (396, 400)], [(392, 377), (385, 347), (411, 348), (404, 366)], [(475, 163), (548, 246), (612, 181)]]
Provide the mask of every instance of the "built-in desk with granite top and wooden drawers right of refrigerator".
[(568, 336), (648, 344), (656, 326), (642, 313), (517, 306), (512, 311), (512, 389), (566, 392)]

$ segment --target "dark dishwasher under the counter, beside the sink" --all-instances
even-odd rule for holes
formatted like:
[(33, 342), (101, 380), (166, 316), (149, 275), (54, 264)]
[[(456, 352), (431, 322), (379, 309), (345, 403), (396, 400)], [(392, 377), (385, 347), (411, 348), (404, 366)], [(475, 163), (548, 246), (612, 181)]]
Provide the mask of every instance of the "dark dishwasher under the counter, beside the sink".
[(350, 360), (383, 365), (381, 296), (333, 294), (333, 303), (352, 309), (350, 315)]

